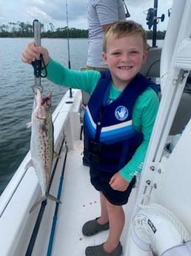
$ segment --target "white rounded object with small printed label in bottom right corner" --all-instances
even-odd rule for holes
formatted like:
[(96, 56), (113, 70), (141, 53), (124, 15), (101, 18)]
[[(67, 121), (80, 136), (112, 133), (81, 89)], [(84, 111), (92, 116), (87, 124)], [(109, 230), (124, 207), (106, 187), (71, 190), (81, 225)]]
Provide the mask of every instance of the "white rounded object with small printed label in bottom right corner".
[(184, 248), (181, 255), (191, 256), (191, 246), (187, 246), (187, 252), (184, 246), (191, 240), (190, 233), (171, 211), (156, 203), (139, 206), (141, 209), (131, 225), (130, 256), (161, 256), (166, 252), (168, 256), (175, 256), (177, 246)]

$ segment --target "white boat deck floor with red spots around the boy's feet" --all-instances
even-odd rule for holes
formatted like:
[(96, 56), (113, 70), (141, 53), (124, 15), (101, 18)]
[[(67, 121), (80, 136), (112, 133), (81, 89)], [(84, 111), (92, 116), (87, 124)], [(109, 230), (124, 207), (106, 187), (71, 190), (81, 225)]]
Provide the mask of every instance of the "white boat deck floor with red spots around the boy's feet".
[[(90, 184), (89, 168), (82, 165), (81, 141), (76, 143), (76, 150), (69, 151), (66, 171), (64, 173), (64, 186), (62, 191), (62, 204), (58, 211), (56, 236), (53, 244), (54, 256), (82, 256), (87, 246), (104, 243), (108, 231), (96, 234), (93, 237), (84, 237), (81, 227), (87, 220), (100, 215), (99, 194)], [(130, 205), (133, 203), (133, 194), (127, 206), (124, 206), (126, 220), (130, 217)], [(127, 243), (127, 226), (124, 228), (121, 243)]]

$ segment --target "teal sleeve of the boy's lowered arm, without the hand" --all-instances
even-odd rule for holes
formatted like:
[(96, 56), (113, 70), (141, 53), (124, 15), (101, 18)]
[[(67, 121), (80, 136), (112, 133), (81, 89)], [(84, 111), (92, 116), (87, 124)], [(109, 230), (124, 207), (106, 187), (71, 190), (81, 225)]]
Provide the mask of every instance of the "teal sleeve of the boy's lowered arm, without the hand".
[(135, 102), (133, 126), (135, 130), (141, 131), (144, 134), (144, 140), (135, 151), (130, 162), (119, 171), (121, 176), (129, 183), (133, 177), (142, 170), (144, 157), (153, 131), (155, 116), (158, 111), (158, 105), (158, 96), (151, 88), (144, 91)]

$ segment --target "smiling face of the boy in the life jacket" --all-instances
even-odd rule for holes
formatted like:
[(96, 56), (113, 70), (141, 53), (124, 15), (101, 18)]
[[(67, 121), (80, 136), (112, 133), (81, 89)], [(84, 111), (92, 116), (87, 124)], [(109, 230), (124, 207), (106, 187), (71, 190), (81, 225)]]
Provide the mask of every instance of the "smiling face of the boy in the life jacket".
[(147, 60), (143, 39), (140, 34), (109, 39), (107, 53), (102, 54), (103, 62), (108, 65), (113, 84), (123, 91)]

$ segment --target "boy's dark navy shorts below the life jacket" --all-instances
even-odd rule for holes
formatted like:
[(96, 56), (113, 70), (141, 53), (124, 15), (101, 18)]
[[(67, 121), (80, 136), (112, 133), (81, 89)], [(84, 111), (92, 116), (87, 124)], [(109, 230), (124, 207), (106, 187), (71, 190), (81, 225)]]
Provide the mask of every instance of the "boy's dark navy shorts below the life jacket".
[(126, 191), (114, 190), (110, 186), (110, 179), (113, 177), (113, 173), (108, 171), (101, 171), (94, 167), (90, 167), (90, 180), (96, 190), (101, 191), (104, 197), (115, 206), (122, 206), (128, 202), (130, 192), (135, 185), (136, 179), (130, 182)]

